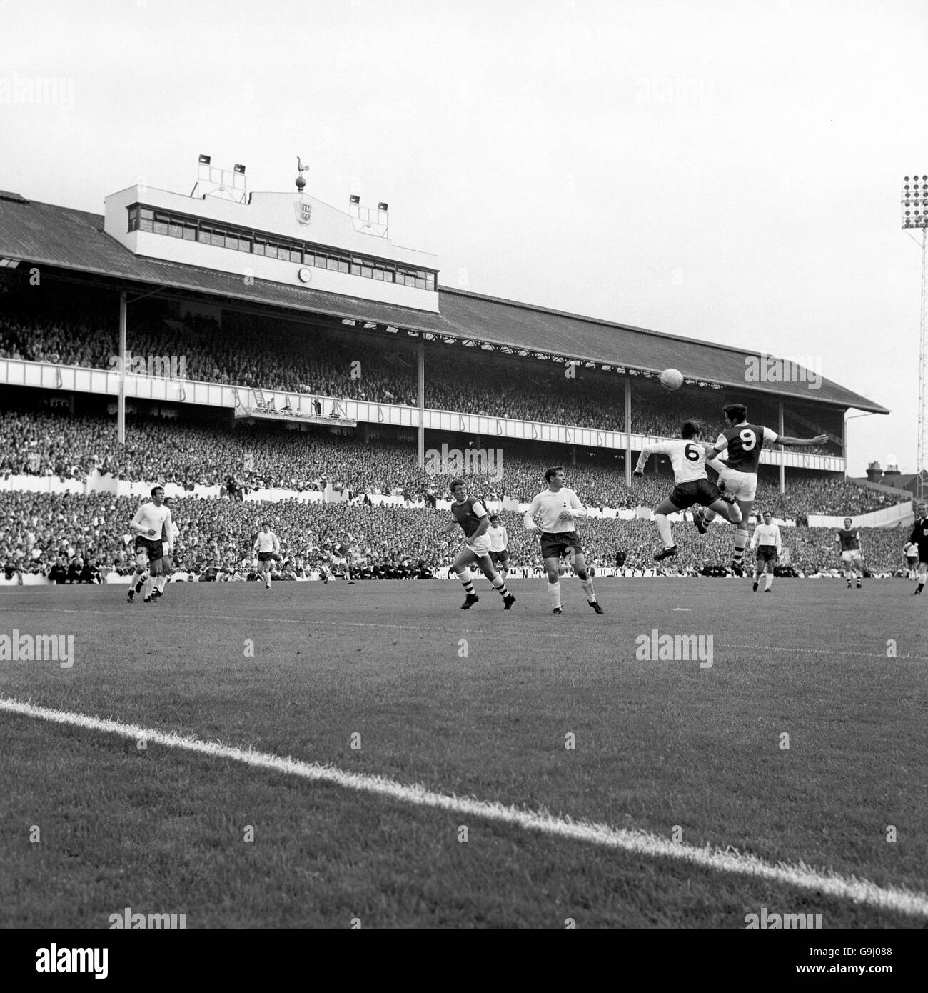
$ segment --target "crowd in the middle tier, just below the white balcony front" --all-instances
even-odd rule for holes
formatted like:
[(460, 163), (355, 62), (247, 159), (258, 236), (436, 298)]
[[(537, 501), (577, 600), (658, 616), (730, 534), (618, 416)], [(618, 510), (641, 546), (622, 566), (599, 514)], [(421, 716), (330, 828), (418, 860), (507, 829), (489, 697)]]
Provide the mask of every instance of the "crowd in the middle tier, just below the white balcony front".
[[(222, 486), (231, 475), (241, 491), (325, 491), (336, 484), (357, 499), (390, 495), (434, 504), (447, 496), (449, 473), (419, 470), (411, 442), (376, 434), (375, 429), (372, 440), (363, 444), (331, 431), (286, 430), (280, 425), (239, 425), (227, 431), (172, 418), (129, 417), (125, 445), (119, 445), (112, 419), (4, 411), (0, 435), (7, 444), (0, 452), (0, 474), (84, 480), (96, 470), (120, 480), (176, 483), (188, 490)], [(490, 499), (528, 502), (544, 488), (549, 463), (516, 454), (520, 450), (508, 444), (500, 451), (502, 459), (491, 474), (468, 477), (473, 489)], [(657, 468), (660, 475), (654, 472)], [(624, 455), (614, 450), (580, 451), (568, 473), (572, 489), (595, 507), (653, 506), (672, 489), (666, 457), (652, 457), (647, 475), (635, 480), (631, 489), (625, 486)], [(770, 479), (761, 475), (755, 503), (782, 518), (858, 514), (901, 501), (845, 480), (794, 471), (789, 471), (786, 492), (780, 494)]]

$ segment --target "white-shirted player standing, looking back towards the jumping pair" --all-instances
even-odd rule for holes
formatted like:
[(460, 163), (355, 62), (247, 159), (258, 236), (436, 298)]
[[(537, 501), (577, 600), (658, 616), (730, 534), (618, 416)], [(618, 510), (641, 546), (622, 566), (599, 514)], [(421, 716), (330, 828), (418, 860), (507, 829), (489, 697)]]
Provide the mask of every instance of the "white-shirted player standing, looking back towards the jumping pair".
[[(545, 560), (545, 571), (548, 574), (548, 597), (551, 600), (552, 614), (562, 614), (561, 610), (561, 559), (570, 552), (574, 555), (574, 571), (580, 579), (580, 585), (587, 594), (587, 603), (597, 612), (602, 608), (597, 603), (597, 595), (593, 589), (593, 577), (587, 571), (587, 560), (584, 558), (583, 545), (576, 531), (575, 517), (584, 517), (587, 509), (577, 494), (565, 485), (563, 466), (553, 466), (545, 471), (545, 481), (548, 489), (535, 497), (523, 520), (526, 530), (533, 534), (541, 534), (541, 557)], [(535, 523), (535, 518), (541, 518), (541, 527)]]

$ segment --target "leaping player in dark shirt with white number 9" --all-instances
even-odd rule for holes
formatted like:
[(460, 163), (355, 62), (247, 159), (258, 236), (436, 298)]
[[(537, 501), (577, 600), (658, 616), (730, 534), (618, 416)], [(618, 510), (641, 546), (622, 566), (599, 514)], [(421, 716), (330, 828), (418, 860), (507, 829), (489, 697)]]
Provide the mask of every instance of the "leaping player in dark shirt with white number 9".
[[(760, 461), (760, 450), (763, 443), (771, 445), (822, 445), (828, 441), (828, 435), (816, 435), (815, 438), (788, 438), (778, 435), (769, 428), (758, 427), (747, 422), (747, 407), (743, 403), (729, 403), (722, 408), (729, 427), (719, 435), (714, 448), (707, 452), (710, 460), (727, 452), (728, 468), (719, 474), (720, 486), (724, 483), (726, 493), (735, 497), (741, 510), (741, 521), (734, 532), (734, 557), (731, 568), (736, 576), (743, 576), (744, 547), (747, 544), (747, 518), (754, 508), (754, 496), (757, 493), (757, 463)], [(712, 520), (708, 513), (703, 514), (705, 521)]]

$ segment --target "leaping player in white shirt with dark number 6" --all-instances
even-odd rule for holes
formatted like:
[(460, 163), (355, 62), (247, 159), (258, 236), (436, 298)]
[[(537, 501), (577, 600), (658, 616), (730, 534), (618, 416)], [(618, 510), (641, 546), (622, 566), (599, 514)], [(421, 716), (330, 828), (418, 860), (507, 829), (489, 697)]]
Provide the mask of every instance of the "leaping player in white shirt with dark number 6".
[[(694, 503), (702, 503), (717, 513), (723, 514), (732, 524), (741, 519), (737, 505), (730, 503), (719, 492), (715, 483), (709, 482), (706, 475), (706, 447), (700, 443), (702, 429), (696, 421), (684, 421), (678, 441), (651, 442), (644, 446), (638, 456), (638, 463), (632, 473), (638, 478), (644, 476), (644, 467), (652, 454), (667, 455), (674, 471), (674, 489), (669, 497), (654, 507), (654, 522), (664, 542), (664, 547), (654, 553), (654, 558), (665, 559), (677, 554), (668, 513), (679, 513)], [(694, 516), (697, 528), (706, 533), (706, 526)]]

